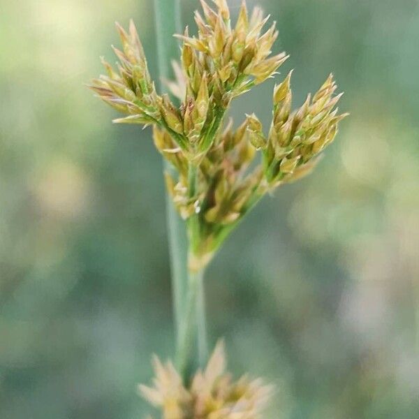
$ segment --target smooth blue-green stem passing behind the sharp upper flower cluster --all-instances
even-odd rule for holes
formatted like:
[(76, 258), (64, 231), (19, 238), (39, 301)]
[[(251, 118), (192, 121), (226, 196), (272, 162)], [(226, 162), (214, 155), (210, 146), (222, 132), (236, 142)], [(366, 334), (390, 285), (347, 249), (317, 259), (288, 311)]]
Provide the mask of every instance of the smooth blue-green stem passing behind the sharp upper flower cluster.
[[(180, 0), (154, 0), (154, 14), (156, 19), (157, 59), (160, 75), (160, 89), (166, 90), (162, 80), (168, 80), (171, 75), (170, 61), (177, 54), (177, 41), (173, 34), (181, 31)], [(165, 161), (164, 169), (173, 169)], [(166, 194), (166, 212), (168, 220), (168, 235), (170, 247), (170, 261), (172, 271), (172, 293), (175, 315), (177, 342), (180, 340), (183, 309), (188, 287), (188, 240), (186, 225), (177, 214), (170, 197)]]

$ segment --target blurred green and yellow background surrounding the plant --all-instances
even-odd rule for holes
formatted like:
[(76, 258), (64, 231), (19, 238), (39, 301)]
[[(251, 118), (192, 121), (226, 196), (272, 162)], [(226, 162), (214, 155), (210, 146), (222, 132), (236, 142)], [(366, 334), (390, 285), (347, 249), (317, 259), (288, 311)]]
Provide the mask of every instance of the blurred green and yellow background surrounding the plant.
[[(212, 344), (277, 385), (267, 418), (418, 418), (419, 2), (257, 3), (295, 104), (332, 71), (351, 117), (212, 263)], [(191, 28), (197, 7), (183, 1)], [(143, 418), (135, 385), (173, 353), (161, 158), (83, 86), (129, 17), (156, 75), (149, 0), (1, 1), (1, 419)], [(236, 122), (267, 124), (272, 86)]]

